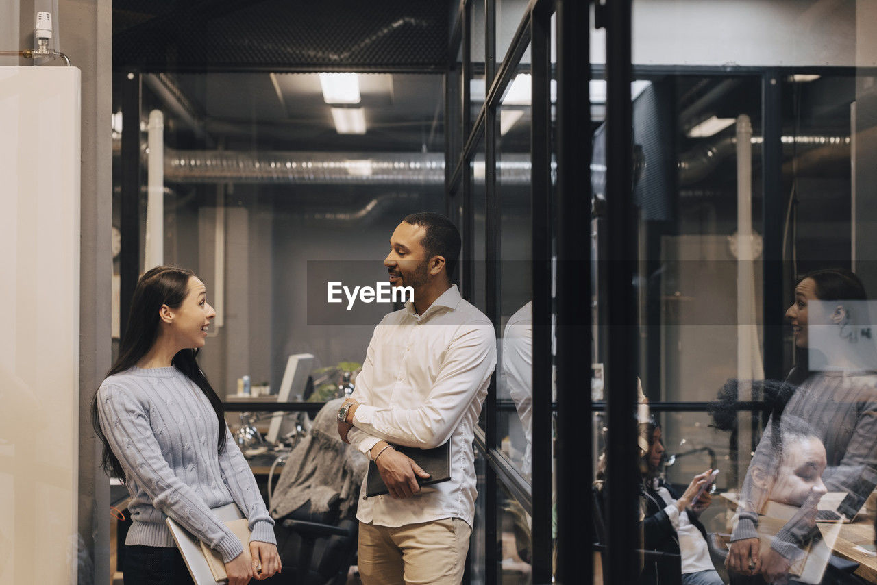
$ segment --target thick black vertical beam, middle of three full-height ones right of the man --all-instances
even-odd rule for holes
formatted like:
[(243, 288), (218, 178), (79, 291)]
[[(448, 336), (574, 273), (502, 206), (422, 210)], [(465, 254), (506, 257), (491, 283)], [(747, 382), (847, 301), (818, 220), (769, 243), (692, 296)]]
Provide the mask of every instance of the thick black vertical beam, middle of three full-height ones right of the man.
[[(590, 583), (591, 396), (582, 391), (590, 336), (588, 3), (557, 2), (557, 582)], [(584, 235), (583, 235), (584, 231)], [(587, 364), (588, 362), (585, 361)], [(587, 371), (587, 370), (586, 370)], [(587, 376), (585, 376), (587, 378)]]

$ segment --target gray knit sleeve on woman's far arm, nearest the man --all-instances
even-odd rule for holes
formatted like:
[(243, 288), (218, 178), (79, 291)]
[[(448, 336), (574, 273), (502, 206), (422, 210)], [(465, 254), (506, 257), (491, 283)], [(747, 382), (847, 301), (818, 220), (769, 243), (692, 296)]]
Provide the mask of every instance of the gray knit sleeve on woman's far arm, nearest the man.
[(225, 427), (225, 450), (219, 456), (219, 467), (222, 469), (225, 485), (228, 486), (234, 502), (249, 520), (250, 540), (277, 544), (274, 532), (274, 519), (268, 515), (265, 502), (256, 485), (253, 471), (247, 465), (244, 454), (232, 439), (232, 432)]

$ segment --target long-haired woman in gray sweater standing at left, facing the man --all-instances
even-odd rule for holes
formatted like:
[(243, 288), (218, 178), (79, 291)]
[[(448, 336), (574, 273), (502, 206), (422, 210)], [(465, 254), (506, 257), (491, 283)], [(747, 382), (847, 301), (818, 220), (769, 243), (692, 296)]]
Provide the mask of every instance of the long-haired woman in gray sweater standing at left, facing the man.
[[(167, 517), (220, 553), (229, 585), (281, 568), (274, 520), (196, 362), (213, 317), (204, 284), (190, 270), (148, 271), (134, 291), (119, 358), (92, 403), (103, 467), (132, 496), (125, 585), (192, 582)], [(249, 520), (252, 564), (211, 511), (232, 502)]]

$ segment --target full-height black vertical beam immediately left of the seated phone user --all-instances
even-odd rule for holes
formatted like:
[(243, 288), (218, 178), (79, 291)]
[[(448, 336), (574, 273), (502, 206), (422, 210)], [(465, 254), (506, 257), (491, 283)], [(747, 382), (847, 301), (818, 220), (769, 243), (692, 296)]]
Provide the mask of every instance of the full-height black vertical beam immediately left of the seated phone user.
[(606, 200), (609, 232), (608, 529), (612, 582), (637, 581), (637, 225), (632, 201), (631, 0), (606, 11)]

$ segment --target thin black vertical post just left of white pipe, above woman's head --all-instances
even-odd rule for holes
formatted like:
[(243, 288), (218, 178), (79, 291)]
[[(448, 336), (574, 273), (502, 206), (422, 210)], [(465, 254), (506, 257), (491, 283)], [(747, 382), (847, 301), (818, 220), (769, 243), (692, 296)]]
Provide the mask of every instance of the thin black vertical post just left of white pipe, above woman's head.
[(128, 313), (140, 272), (140, 96), (138, 71), (122, 74), (122, 193), (119, 196), (119, 335), (125, 339)]

